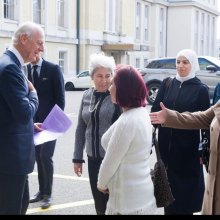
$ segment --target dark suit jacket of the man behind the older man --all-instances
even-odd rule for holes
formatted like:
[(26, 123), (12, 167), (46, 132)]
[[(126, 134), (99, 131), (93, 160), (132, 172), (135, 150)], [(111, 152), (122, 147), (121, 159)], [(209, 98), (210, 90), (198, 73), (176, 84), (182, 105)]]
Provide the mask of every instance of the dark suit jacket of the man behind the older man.
[[(31, 64), (27, 65), (28, 79), (32, 81)], [(42, 61), (37, 94), (39, 107), (35, 116), (35, 122), (43, 122), (51, 109), (57, 104), (61, 109), (65, 106), (64, 79), (58, 65)]]

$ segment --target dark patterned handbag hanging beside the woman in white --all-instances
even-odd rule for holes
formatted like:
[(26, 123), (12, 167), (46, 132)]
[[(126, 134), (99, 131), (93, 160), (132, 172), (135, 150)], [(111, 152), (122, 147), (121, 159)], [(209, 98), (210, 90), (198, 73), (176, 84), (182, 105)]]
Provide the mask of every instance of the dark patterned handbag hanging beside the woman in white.
[(175, 199), (170, 189), (165, 165), (160, 156), (158, 141), (156, 139), (156, 128), (153, 132), (153, 145), (155, 146), (157, 162), (154, 165), (154, 169), (151, 169), (150, 174), (154, 184), (156, 204), (157, 207), (160, 208), (169, 206)]

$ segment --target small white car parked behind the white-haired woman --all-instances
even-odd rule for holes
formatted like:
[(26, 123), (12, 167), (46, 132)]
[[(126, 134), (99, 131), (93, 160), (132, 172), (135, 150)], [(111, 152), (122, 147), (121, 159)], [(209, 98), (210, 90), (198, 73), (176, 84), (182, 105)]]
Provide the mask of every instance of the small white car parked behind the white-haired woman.
[(73, 91), (74, 89), (88, 89), (93, 86), (88, 70), (83, 71), (76, 76), (68, 78), (64, 77), (64, 84), (66, 91)]

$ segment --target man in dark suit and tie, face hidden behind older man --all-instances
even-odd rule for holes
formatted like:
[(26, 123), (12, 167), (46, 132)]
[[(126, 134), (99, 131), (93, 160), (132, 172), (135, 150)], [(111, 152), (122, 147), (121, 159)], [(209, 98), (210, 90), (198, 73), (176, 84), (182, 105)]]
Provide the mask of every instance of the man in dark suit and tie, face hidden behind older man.
[[(57, 104), (61, 109), (65, 105), (64, 79), (58, 65), (48, 62), (38, 56), (37, 60), (27, 65), (28, 79), (33, 82), (38, 98), (39, 107), (35, 115), (35, 122), (43, 122), (51, 109)], [(53, 184), (53, 154), (56, 141), (49, 141), (35, 148), (38, 170), (39, 192), (30, 202), (43, 200), (41, 208), (51, 205)]]

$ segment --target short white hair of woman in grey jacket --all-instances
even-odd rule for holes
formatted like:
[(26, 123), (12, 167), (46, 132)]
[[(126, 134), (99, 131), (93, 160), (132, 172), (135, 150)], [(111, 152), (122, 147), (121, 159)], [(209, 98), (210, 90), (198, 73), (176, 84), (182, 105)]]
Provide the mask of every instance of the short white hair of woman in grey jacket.
[(109, 69), (111, 74), (113, 74), (116, 67), (114, 58), (106, 56), (104, 53), (91, 54), (89, 63), (90, 75), (93, 76), (95, 70), (100, 67)]

